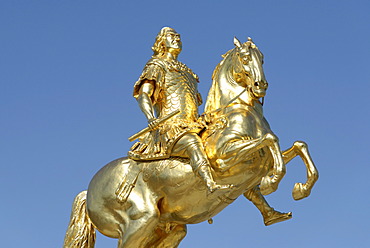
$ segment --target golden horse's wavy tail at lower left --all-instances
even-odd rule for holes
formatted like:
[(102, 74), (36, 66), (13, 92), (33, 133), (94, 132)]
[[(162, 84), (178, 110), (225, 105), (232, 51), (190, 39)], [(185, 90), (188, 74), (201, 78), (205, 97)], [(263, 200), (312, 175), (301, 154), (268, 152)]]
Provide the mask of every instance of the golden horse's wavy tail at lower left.
[(93, 248), (95, 245), (95, 229), (86, 212), (86, 195), (87, 191), (82, 191), (73, 202), (63, 248)]

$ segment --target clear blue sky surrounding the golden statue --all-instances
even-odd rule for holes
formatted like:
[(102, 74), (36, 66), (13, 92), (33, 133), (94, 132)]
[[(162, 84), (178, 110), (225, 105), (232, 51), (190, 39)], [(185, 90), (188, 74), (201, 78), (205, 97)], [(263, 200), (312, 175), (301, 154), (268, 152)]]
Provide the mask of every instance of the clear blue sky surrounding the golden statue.
[[(265, 227), (240, 197), (214, 224), (188, 225), (180, 247), (365, 247), (370, 242), (368, 1), (1, 1), (1, 247), (61, 247), (73, 198), (125, 156), (146, 125), (132, 86), (163, 26), (206, 98), (233, 37), (265, 55), (265, 116), (283, 149), (309, 144), (312, 195), (299, 159), (267, 197), (293, 219)], [(203, 108), (203, 107), (202, 107)], [(203, 109), (200, 109), (202, 112)], [(96, 247), (116, 247), (98, 235)]]

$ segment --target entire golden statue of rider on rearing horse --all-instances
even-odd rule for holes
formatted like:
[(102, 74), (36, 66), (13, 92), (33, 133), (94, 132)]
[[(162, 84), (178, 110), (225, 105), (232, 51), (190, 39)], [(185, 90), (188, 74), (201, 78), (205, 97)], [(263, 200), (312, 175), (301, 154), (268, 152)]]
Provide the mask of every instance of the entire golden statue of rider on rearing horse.
[(295, 200), (309, 196), (318, 171), (306, 143), (280, 149), (263, 116), (263, 55), (250, 38), (234, 38), (234, 45), (213, 72), (199, 116), (198, 77), (177, 60), (180, 35), (162, 28), (134, 85), (148, 127), (130, 137), (139, 140), (128, 157), (104, 166), (76, 196), (65, 248), (94, 247), (95, 229), (117, 238), (119, 248), (178, 247), (186, 224), (211, 221), (242, 194), (265, 225), (292, 217), (270, 207), (263, 195), (277, 190), (296, 156), (307, 181), (295, 184)]

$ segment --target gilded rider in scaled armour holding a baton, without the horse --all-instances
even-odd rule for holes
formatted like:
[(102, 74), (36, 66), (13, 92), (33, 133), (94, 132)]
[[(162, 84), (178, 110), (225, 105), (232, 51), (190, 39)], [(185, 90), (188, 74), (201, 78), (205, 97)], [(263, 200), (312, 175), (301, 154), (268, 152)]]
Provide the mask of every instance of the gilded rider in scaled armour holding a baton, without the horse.
[[(204, 128), (198, 121), (198, 106), (202, 103), (197, 89), (199, 80), (177, 60), (181, 49), (180, 35), (172, 28), (162, 28), (152, 47), (154, 54), (135, 83), (133, 93), (152, 131), (132, 146), (129, 157), (134, 160), (189, 158), (194, 173), (204, 180), (210, 192), (226, 189), (230, 185), (219, 185), (213, 180), (198, 135)], [(158, 119), (177, 110), (178, 114), (158, 125)]]

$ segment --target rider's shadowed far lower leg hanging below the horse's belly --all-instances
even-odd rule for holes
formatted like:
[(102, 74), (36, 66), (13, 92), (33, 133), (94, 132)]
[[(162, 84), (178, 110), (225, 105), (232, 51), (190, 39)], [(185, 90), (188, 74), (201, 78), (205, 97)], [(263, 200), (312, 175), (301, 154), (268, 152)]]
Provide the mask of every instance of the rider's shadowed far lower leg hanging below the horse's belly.
[(248, 190), (244, 193), (244, 196), (250, 200), (261, 212), (263, 217), (263, 222), (266, 226), (284, 221), (289, 220), (292, 218), (292, 213), (281, 213), (279, 211), (274, 210), (270, 205), (267, 203), (265, 197), (261, 194), (260, 189), (258, 186)]

